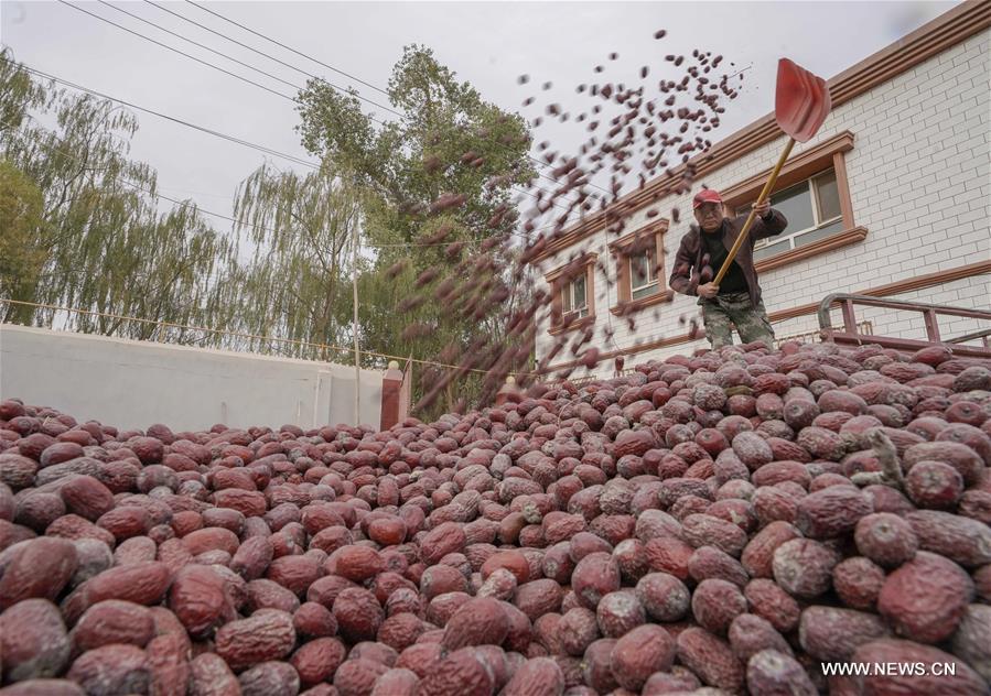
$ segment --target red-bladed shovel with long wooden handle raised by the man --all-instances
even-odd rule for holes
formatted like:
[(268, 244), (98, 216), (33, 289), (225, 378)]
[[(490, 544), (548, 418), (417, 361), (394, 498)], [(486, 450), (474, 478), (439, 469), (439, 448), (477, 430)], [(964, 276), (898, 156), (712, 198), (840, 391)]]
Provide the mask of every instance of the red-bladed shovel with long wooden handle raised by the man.
[(826, 117), (829, 116), (831, 107), (832, 101), (829, 98), (829, 87), (826, 85), (825, 79), (798, 67), (788, 58), (782, 58), (778, 62), (774, 118), (780, 129), (790, 138), (788, 139), (788, 144), (785, 145), (782, 156), (778, 157), (777, 164), (774, 165), (774, 171), (771, 172), (771, 178), (764, 184), (764, 189), (757, 197), (757, 202), (751, 208), (746, 222), (744, 222), (743, 229), (740, 230), (736, 241), (733, 242), (733, 248), (730, 249), (726, 260), (723, 261), (722, 268), (713, 279), (713, 284), (719, 285), (730, 270), (730, 264), (736, 257), (736, 252), (740, 251), (740, 247), (743, 246), (743, 240), (746, 239), (750, 228), (754, 224), (757, 206), (767, 198), (772, 188), (774, 188), (777, 175), (780, 174), (788, 155), (791, 154), (793, 145), (795, 145), (796, 141), (808, 142), (816, 134), (816, 131), (819, 130), (819, 127), (822, 126)]

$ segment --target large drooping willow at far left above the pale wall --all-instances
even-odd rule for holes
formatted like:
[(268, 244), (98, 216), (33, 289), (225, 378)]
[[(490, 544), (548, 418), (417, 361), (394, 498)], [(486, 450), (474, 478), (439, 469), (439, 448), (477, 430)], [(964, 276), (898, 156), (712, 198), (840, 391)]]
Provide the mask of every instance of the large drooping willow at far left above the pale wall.
[[(191, 203), (160, 211), (154, 171), (129, 157), (138, 130), (132, 113), (33, 80), (3, 52), (0, 115), (0, 155), (41, 196), (41, 221), (25, 241), (40, 253), (36, 272), (28, 281), (21, 278), (18, 296), (10, 298), (99, 313), (71, 313), (60, 320), (133, 338), (151, 337), (159, 330), (153, 322), (211, 323), (215, 280), (234, 261), (236, 244)], [(8, 285), (11, 279), (4, 275)], [(56, 311), (31, 315), (21, 318), (46, 326)], [(182, 333), (166, 335), (176, 331)]]

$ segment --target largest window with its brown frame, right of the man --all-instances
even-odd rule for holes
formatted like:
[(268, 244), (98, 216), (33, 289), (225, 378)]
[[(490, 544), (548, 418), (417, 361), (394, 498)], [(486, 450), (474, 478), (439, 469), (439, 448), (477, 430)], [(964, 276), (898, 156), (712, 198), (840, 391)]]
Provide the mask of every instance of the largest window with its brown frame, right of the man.
[[(754, 244), (758, 273), (866, 238), (868, 230), (853, 221), (847, 181), (844, 155), (852, 149), (853, 133), (842, 131), (785, 163), (771, 205), (788, 218), (788, 227)], [(723, 189), (726, 207), (737, 215), (750, 213), (769, 175), (769, 170), (760, 172)]]

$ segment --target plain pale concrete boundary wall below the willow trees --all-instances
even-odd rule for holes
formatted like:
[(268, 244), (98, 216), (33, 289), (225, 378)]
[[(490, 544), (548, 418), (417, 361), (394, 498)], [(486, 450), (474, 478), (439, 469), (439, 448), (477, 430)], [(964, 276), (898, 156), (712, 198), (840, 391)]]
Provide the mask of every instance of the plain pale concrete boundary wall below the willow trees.
[[(362, 370), (376, 429), (381, 381)], [(0, 398), (119, 428), (354, 424), (354, 367), (0, 324)]]

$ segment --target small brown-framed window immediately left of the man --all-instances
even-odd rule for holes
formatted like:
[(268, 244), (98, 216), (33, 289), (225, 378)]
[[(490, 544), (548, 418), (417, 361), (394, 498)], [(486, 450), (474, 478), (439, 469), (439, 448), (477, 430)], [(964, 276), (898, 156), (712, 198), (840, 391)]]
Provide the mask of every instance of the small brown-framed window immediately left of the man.
[(663, 281), (667, 220), (639, 229), (610, 244), (616, 263), (615, 315), (627, 314), (674, 297)]

